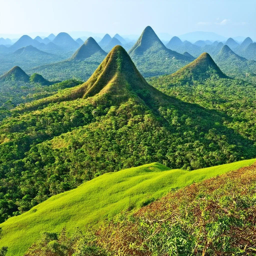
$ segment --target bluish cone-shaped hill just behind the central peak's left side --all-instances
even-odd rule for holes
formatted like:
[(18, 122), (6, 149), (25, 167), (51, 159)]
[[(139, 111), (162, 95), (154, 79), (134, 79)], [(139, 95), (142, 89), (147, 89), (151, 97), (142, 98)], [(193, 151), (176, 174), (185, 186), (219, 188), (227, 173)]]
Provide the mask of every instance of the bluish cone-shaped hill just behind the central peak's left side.
[(101, 47), (97, 44), (97, 42), (89, 37), (84, 44), (80, 46), (80, 48), (73, 54), (71, 59), (74, 60), (84, 60), (91, 57), (94, 54), (106, 56), (106, 52), (101, 49)]

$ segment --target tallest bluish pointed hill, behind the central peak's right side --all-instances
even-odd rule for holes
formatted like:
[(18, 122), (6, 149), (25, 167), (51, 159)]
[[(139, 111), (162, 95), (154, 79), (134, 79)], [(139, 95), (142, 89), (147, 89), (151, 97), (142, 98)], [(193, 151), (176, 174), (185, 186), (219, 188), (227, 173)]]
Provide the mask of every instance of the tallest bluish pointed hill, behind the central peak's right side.
[(150, 26), (144, 29), (129, 55), (146, 77), (172, 73), (194, 59), (167, 49)]

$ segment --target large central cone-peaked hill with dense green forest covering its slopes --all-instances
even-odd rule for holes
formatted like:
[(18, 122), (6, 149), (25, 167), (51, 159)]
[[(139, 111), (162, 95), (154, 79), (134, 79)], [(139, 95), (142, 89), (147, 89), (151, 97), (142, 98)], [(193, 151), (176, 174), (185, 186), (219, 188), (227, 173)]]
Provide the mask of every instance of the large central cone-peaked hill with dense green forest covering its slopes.
[(255, 156), (232, 117), (150, 86), (121, 46), (87, 82), (11, 113), (0, 126), (1, 221), (106, 172), (152, 162), (190, 170)]

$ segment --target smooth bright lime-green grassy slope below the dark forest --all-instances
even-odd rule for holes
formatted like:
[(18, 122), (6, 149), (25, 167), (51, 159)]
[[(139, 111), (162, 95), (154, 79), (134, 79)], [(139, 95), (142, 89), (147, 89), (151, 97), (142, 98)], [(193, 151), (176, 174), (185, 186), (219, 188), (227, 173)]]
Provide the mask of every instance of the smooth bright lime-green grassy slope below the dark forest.
[(152, 163), (140, 167), (103, 174), (78, 188), (53, 196), (22, 215), (0, 224), (1, 246), (7, 255), (23, 255), (41, 231), (71, 232), (76, 227), (90, 227), (129, 207), (140, 208), (162, 197), (172, 188), (248, 166), (256, 159), (224, 164), (191, 172)]

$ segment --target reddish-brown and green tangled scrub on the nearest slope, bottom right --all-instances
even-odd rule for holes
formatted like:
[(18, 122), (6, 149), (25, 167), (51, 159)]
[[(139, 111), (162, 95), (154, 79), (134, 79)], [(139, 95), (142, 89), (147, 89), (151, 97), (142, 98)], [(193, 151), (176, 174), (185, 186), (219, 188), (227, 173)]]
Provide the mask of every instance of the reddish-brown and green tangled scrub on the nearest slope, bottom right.
[[(255, 164), (194, 183), (105, 222), (86, 234), (90, 239), (82, 248), (93, 241), (111, 256), (254, 255), (255, 188)], [(61, 238), (56, 247), (70, 241)], [(26, 255), (44, 255), (46, 248), (36, 243)]]

